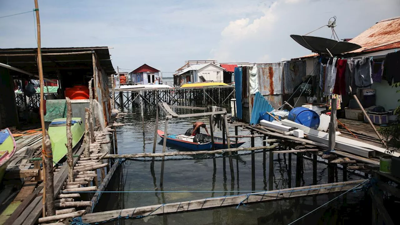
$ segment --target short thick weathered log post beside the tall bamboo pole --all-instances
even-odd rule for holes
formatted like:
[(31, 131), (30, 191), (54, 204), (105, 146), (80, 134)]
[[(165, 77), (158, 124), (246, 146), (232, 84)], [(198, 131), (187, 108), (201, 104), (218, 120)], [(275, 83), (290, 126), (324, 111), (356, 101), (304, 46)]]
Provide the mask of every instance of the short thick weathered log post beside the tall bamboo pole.
[(46, 168), (46, 214), (47, 216), (56, 215), (56, 208), (54, 207), (54, 174), (53, 174), (53, 153), (51, 149), (51, 141), (46, 134), (44, 144), (46, 145), (46, 152), (43, 158), (43, 166)]

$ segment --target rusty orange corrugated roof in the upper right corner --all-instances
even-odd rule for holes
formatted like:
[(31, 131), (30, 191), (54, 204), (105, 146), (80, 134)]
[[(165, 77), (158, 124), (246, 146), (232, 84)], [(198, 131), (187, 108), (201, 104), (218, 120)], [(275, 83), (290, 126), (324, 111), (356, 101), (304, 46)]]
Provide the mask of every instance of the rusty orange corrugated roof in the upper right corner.
[(400, 17), (381, 20), (349, 42), (358, 44), (354, 52), (370, 52), (400, 47)]

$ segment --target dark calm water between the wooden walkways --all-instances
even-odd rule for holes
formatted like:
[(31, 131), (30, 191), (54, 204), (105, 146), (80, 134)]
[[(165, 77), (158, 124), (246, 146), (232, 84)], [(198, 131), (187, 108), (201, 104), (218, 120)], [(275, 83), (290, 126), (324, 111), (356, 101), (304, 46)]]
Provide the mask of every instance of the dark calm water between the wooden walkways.
[[(205, 118), (198, 118), (204, 121)], [(126, 125), (117, 129), (118, 153), (151, 153), (154, 140), (155, 116), (145, 113), (144, 134), (140, 112), (126, 115), (119, 120)], [(196, 119), (172, 119), (168, 124), (168, 133), (182, 134), (192, 126)], [(164, 130), (164, 118), (160, 118), (159, 129)], [(230, 128), (234, 133), (234, 128)], [(239, 128), (239, 134), (249, 134)], [(222, 131), (215, 131), (215, 136), (222, 137)], [(250, 147), (250, 139), (242, 147)], [(256, 146), (262, 145), (261, 139), (256, 139)], [(178, 151), (170, 146), (167, 152)], [(157, 137), (156, 152), (162, 152), (161, 138)], [(243, 153), (243, 152), (242, 152)], [(296, 155), (292, 155), (292, 173), (288, 173), (288, 155), (274, 154), (274, 173), (268, 173), (269, 155), (263, 162), (263, 153), (255, 154), (255, 185), (253, 190), (268, 190), (268, 182), (272, 179), (273, 189), (295, 187)], [(182, 159), (181, 156), (174, 158)], [(189, 156), (188, 159), (193, 159)], [(226, 161), (226, 163), (224, 163)], [(207, 197), (244, 194), (252, 191), (251, 155), (240, 155), (233, 159), (235, 179), (230, 176), (228, 159), (199, 159), (166, 161), (164, 168), (164, 185), (160, 188), (161, 162), (126, 161), (116, 172), (108, 190), (119, 191), (209, 191), (202, 193), (104, 193), (95, 211), (105, 211), (121, 208), (133, 208), (162, 203), (174, 203)], [(264, 169), (266, 168), (266, 169)], [(335, 170), (335, 181), (342, 181), (342, 171)], [(324, 163), (318, 163), (318, 183), (328, 183), (328, 169)], [(290, 179), (291, 177), (291, 179)], [(348, 173), (348, 180), (361, 179)], [(304, 160), (304, 176), (301, 185), (312, 185), (312, 161)], [(121, 220), (120, 224), (288, 224), (316, 207), (339, 195), (338, 193), (317, 197), (304, 197), (266, 203), (256, 203), (246, 206), (225, 207), (221, 209), (202, 210), (188, 213), (178, 213), (161, 216), (148, 216), (143, 219)], [(364, 204), (364, 193), (348, 193), (328, 206), (308, 215), (297, 224), (364, 224), (370, 221), (368, 210), (360, 210)]]

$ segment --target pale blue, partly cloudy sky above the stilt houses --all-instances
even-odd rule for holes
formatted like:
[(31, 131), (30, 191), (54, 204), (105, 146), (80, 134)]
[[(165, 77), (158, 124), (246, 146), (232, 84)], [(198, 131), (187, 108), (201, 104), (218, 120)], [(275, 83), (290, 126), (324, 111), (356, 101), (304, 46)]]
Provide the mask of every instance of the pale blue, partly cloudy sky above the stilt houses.
[[(34, 0), (0, 0), (0, 17)], [(340, 39), (400, 16), (399, 0), (39, 0), (42, 47), (108, 46), (112, 64), (146, 63), (164, 77), (186, 60), (271, 63), (310, 54), (304, 35), (336, 16)], [(36, 47), (33, 11), (0, 18), (0, 48)], [(330, 38), (328, 27), (312, 36)]]

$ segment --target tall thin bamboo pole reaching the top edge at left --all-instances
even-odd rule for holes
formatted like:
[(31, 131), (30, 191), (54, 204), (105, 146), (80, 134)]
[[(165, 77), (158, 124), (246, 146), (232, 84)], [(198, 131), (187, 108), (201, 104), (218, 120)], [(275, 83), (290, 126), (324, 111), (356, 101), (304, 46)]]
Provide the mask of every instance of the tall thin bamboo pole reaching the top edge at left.
[[(44, 125), (44, 92), (43, 92), (43, 66), (42, 66), (42, 50), (41, 50), (41, 42), (40, 42), (40, 16), (39, 16), (39, 4), (38, 0), (34, 0), (35, 2), (35, 12), (36, 12), (36, 26), (38, 30), (38, 72), (39, 72), (39, 81), (40, 81), (40, 122), (42, 125), (42, 157), (43, 159), (46, 158), (46, 146), (44, 144), (44, 137), (46, 137), (46, 127)], [(51, 170), (52, 171), (52, 170)], [(46, 183), (46, 169), (43, 168), (44, 172), (44, 182)], [(50, 192), (53, 193), (53, 192)], [(46, 185), (43, 190), (43, 209), (42, 209), (42, 216), (46, 216)], [(55, 213), (55, 212), (54, 212)]]

